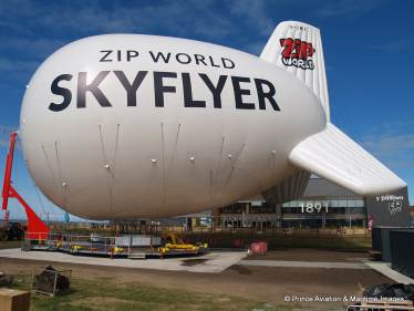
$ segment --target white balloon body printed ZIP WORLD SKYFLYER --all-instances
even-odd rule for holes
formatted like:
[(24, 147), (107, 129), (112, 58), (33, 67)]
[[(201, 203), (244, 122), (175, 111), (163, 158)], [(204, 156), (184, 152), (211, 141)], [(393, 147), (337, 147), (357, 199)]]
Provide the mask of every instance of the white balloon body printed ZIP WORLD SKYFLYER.
[[(268, 45), (286, 54), (280, 42)], [(297, 170), (292, 149), (329, 118), (322, 49), (313, 55), (300, 42), (308, 61), (296, 54), (288, 70), (267, 59), (268, 45), (257, 58), (106, 34), (60, 49), (33, 75), (21, 108), (34, 183), (62, 209), (96, 220), (185, 215), (271, 188)]]

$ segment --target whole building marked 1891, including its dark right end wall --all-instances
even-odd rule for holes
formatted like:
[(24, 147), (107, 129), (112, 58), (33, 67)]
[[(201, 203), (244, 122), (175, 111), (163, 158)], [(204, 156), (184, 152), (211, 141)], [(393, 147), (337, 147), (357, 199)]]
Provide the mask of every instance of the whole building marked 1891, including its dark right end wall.
[(225, 227), (410, 227), (407, 188), (366, 198), (321, 178), (311, 178), (303, 197), (284, 204), (268, 204), (261, 194), (211, 212), (213, 226)]

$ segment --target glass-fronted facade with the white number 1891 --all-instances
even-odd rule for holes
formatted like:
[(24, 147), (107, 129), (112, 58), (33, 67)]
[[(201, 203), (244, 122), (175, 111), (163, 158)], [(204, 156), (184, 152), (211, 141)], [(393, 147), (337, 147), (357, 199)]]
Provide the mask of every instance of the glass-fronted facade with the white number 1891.
[(222, 207), (218, 214), (217, 225), (225, 227), (366, 227), (365, 203), (360, 197), (301, 198), (282, 205), (252, 200)]

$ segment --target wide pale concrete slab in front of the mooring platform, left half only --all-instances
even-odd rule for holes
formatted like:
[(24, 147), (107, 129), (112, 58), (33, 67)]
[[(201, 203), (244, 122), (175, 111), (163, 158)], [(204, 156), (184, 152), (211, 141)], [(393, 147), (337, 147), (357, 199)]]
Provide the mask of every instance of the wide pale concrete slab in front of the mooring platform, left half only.
[[(210, 251), (201, 256), (193, 257), (166, 257), (161, 259), (127, 259), (108, 257), (92, 257), (69, 255), (59, 251), (21, 251), (20, 249), (2, 249), (0, 257), (27, 260), (42, 260), (70, 262), (81, 265), (95, 265), (106, 267), (156, 269), (172, 271), (210, 272), (218, 273), (246, 257), (244, 251)], [(203, 262), (201, 262), (203, 261)]]

